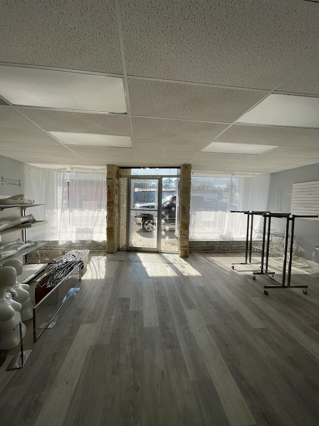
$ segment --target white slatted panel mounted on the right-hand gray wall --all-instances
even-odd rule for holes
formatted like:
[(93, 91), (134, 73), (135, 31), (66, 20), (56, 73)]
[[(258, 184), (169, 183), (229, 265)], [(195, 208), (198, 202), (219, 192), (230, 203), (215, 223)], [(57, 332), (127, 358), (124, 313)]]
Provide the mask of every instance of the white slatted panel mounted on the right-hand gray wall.
[(291, 213), (319, 214), (319, 180), (293, 183)]

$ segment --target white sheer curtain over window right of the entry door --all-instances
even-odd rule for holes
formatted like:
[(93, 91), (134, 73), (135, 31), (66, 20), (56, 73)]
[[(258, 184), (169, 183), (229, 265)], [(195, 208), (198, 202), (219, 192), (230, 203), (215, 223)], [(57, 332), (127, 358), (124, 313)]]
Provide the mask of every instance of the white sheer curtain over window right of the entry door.
[(269, 184), (270, 175), (193, 173), (189, 239), (245, 238), (246, 216), (230, 210), (265, 210)]

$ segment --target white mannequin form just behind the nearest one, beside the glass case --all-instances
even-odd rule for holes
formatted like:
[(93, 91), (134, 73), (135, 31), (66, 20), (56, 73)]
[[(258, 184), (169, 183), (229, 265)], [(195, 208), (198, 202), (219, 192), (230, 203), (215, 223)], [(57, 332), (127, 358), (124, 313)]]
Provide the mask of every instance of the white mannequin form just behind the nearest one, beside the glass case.
[[(21, 275), (23, 272), (22, 262), (17, 259), (8, 260), (3, 263), (2, 267), (3, 266), (11, 266), (14, 268), (16, 275)], [(22, 321), (30, 320), (33, 317), (33, 304), (28, 292), (29, 288), (30, 286), (27, 284), (19, 284), (17, 281), (13, 287), (6, 288), (6, 291), (12, 294), (13, 300), (22, 305), (22, 309), (20, 311)]]

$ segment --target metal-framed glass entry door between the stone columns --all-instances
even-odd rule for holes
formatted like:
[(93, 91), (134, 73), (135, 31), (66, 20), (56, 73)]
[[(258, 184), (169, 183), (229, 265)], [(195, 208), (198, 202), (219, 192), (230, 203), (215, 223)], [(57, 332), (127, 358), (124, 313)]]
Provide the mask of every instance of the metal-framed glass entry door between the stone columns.
[(129, 250), (159, 251), (159, 182), (129, 178)]

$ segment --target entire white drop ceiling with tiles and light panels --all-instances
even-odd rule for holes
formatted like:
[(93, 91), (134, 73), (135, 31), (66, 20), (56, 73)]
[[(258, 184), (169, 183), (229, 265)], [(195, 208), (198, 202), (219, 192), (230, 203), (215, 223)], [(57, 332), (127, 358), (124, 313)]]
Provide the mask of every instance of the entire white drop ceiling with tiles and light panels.
[(319, 163), (318, 2), (12, 0), (1, 16), (5, 157), (262, 173)]

